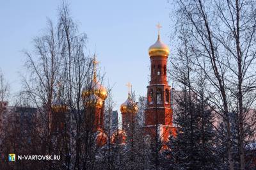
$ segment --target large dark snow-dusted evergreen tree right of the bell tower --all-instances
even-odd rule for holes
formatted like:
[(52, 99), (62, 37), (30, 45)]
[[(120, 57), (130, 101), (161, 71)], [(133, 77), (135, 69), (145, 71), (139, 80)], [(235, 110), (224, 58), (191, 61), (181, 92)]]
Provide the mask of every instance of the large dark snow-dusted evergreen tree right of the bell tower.
[(170, 137), (166, 152), (170, 169), (218, 169), (213, 112), (204, 100), (204, 86), (196, 93), (185, 87), (179, 98), (175, 123), (177, 136)]

